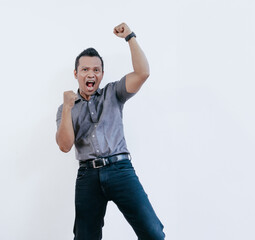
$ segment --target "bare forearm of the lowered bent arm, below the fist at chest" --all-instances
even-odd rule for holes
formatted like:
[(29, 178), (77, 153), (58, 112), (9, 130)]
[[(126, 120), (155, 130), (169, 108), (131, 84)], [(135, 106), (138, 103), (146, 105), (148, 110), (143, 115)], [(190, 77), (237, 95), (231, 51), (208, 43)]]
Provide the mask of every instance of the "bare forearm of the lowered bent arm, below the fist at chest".
[(56, 133), (56, 141), (63, 152), (69, 152), (73, 146), (74, 130), (70, 107), (63, 106), (61, 123)]

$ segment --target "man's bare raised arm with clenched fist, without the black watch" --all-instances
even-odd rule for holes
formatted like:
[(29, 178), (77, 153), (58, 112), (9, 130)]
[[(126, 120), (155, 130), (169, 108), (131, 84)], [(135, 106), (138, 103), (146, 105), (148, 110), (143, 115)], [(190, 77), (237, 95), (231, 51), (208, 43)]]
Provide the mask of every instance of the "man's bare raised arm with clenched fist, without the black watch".
[[(127, 24), (122, 23), (114, 28), (114, 34), (120, 38), (126, 38), (132, 31)], [(149, 63), (141, 47), (132, 37), (129, 41), (132, 65), (134, 71), (126, 75), (126, 88), (129, 93), (136, 93), (150, 75)]]

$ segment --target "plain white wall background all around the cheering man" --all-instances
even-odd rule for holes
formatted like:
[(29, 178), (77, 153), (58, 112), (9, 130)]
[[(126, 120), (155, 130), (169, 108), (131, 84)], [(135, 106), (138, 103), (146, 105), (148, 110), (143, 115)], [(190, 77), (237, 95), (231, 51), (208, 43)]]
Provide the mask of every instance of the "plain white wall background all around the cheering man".
[[(56, 111), (87, 47), (101, 87), (132, 71), (121, 22), (150, 63), (124, 124), (166, 239), (255, 239), (254, 16), (252, 0), (1, 0), (0, 239), (73, 238), (78, 163), (55, 143)], [(103, 235), (136, 239), (113, 203)]]

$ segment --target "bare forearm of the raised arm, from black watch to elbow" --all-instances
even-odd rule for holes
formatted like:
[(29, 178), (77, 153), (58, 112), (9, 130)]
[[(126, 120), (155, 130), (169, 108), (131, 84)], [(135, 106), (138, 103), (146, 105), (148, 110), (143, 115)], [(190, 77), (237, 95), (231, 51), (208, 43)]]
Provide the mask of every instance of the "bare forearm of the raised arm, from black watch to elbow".
[(143, 79), (145, 78), (146, 80), (150, 75), (150, 68), (147, 58), (135, 37), (132, 37), (128, 43), (131, 52), (134, 73), (141, 76)]

